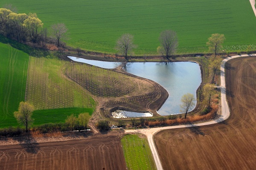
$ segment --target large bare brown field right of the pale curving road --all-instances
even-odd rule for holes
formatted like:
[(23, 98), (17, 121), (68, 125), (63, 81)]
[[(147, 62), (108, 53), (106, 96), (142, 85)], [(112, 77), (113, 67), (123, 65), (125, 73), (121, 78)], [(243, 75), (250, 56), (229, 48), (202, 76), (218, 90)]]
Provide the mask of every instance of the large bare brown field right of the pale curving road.
[(163, 169), (256, 169), (256, 57), (232, 59), (225, 72), (230, 118), (157, 133)]

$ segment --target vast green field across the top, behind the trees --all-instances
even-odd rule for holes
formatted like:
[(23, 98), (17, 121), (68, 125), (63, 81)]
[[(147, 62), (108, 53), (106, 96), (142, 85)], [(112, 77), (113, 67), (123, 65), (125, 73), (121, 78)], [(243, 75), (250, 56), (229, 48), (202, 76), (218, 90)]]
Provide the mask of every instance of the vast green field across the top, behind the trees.
[[(161, 31), (177, 32), (179, 53), (207, 51), (207, 38), (224, 34), (224, 45), (256, 44), (256, 17), (249, 0), (1, 0), (19, 13), (37, 13), (48, 27), (65, 23), (67, 44), (116, 53), (116, 40), (134, 35), (136, 54), (155, 54)], [(230, 46), (231, 45), (231, 46)]]

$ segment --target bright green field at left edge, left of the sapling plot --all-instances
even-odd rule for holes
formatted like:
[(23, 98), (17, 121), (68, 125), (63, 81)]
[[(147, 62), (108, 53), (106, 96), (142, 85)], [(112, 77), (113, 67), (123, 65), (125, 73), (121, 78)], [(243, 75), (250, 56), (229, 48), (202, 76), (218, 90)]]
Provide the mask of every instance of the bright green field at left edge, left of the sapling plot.
[(25, 99), (29, 55), (0, 42), (0, 127), (17, 125), (13, 112)]

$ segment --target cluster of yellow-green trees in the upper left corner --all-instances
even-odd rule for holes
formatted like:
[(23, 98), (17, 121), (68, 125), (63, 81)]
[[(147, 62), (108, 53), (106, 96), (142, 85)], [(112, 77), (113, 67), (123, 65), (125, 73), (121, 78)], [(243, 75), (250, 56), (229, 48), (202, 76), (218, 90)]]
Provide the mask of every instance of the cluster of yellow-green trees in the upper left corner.
[[(63, 23), (53, 24), (49, 30), (36, 13), (18, 14), (7, 8), (0, 8), (0, 34), (17, 42), (38, 44), (45, 47), (52, 42), (59, 47), (67, 38), (67, 27)], [(49, 34), (49, 36), (48, 36)]]

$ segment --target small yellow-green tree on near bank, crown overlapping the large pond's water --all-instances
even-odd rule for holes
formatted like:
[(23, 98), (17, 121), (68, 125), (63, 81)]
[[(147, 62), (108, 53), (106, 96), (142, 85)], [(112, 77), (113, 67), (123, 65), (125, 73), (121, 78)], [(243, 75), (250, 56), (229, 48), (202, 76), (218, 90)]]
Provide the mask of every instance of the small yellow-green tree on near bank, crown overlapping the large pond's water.
[(186, 115), (188, 113), (189, 110), (191, 110), (194, 106), (195, 106), (195, 97), (193, 94), (190, 94), (190, 93), (187, 93), (187, 94), (184, 94), (182, 97), (181, 97), (181, 100), (182, 104), (180, 105), (180, 108), (181, 108), (181, 112), (185, 112), (185, 119), (186, 119)]

